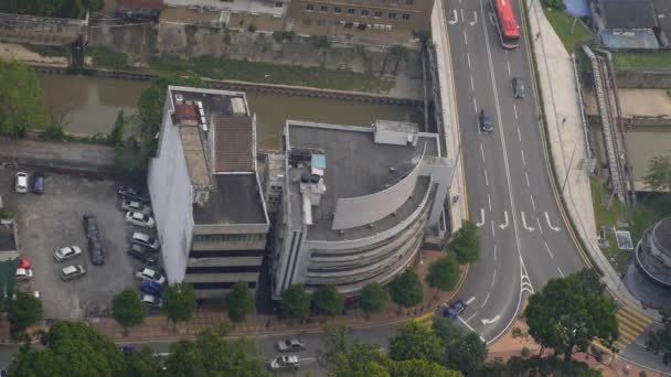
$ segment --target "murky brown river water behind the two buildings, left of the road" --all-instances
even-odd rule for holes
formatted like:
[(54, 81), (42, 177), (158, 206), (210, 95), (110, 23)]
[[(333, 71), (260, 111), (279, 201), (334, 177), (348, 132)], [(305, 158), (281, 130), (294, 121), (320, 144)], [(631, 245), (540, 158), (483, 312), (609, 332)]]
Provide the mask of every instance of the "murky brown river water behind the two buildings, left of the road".
[[(109, 133), (119, 110), (137, 111), (142, 89), (150, 83), (89, 76), (38, 74), (49, 111), (65, 120), (76, 134)], [(258, 147), (279, 149), (286, 119), (369, 126), (375, 119), (424, 123), (418, 108), (385, 104), (333, 100), (247, 91), (249, 109), (257, 117)]]

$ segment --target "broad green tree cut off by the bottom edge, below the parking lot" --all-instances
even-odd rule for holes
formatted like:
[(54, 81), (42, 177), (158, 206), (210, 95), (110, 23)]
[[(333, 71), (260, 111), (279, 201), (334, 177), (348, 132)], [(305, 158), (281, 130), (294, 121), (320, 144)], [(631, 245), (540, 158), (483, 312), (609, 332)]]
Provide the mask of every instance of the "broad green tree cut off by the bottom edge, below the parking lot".
[(57, 321), (42, 336), (43, 347), (21, 347), (10, 376), (127, 376), (118, 347), (83, 322)]

